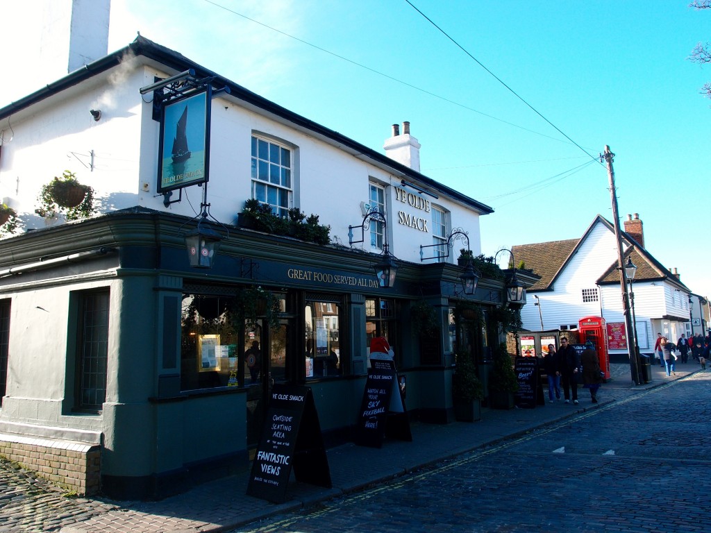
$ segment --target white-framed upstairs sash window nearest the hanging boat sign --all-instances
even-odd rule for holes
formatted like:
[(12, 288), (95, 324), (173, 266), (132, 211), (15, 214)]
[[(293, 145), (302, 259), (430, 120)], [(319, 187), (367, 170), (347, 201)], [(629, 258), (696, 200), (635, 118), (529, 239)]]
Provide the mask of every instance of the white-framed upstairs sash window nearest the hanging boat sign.
[(252, 136), (252, 198), (271, 205), (281, 217), (292, 205), (292, 159), (287, 146)]

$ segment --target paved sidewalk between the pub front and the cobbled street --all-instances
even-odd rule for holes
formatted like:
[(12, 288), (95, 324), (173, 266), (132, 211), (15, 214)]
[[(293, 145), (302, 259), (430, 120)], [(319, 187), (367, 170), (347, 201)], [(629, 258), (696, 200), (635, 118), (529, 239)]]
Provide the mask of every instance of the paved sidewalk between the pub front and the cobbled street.
[[(611, 380), (598, 393), (601, 406), (700, 370), (696, 362), (677, 365), (675, 376), (651, 367), (651, 383), (634, 386), (629, 365), (610, 365)], [(547, 398), (547, 392), (545, 394)], [(413, 470), (436, 465), (468, 451), (520, 436), (596, 405), (579, 389), (579, 405), (546, 403), (535, 409), (482, 409), (473, 424), (413, 423), (412, 442), (387, 440), (383, 448), (347, 443), (327, 451), (333, 488), (292, 482), (287, 502), (273, 504), (247, 496), (249, 471), (199, 485), (160, 502), (114, 502), (66, 498), (44, 480), (0, 463), (0, 533), (8, 532), (225, 532), (282, 512), (383, 483)]]

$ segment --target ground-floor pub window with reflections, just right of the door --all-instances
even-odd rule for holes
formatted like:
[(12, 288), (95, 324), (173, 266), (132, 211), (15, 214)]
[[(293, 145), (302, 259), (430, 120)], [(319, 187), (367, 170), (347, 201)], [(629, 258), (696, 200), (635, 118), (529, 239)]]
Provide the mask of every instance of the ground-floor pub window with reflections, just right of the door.
[(338, 304), (306, 302), (304, 325), (306, 379), (343, 375), (338, 335)]

